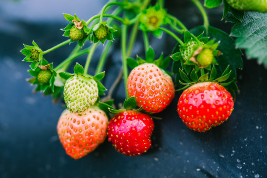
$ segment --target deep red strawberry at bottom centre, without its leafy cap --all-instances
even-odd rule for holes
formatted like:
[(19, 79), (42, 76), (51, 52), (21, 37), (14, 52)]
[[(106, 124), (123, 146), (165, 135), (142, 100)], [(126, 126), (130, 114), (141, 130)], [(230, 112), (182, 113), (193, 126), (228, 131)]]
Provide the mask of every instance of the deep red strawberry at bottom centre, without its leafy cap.
[(137, 156), (150, 148), (153, 129), (154, 122), (149, 115), (127, 110), (110, 120), (108, 140), (118, 152)]

